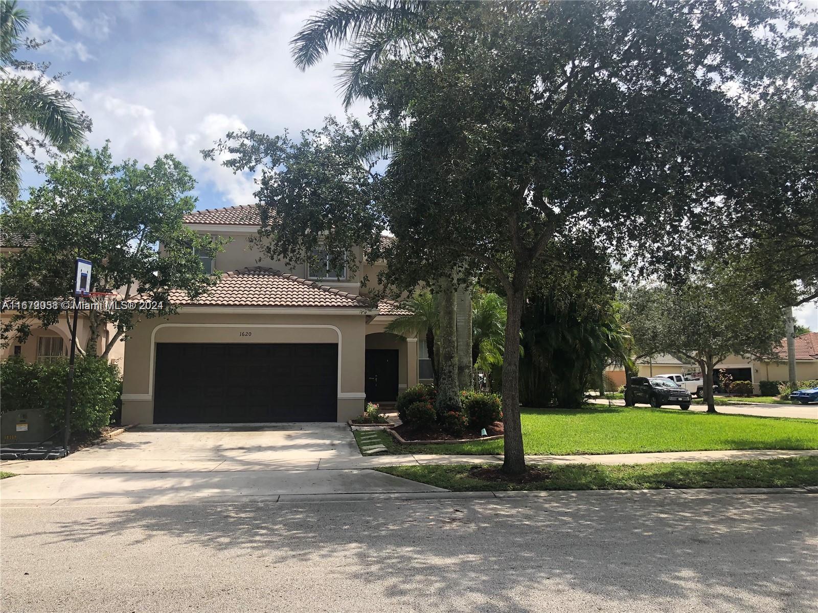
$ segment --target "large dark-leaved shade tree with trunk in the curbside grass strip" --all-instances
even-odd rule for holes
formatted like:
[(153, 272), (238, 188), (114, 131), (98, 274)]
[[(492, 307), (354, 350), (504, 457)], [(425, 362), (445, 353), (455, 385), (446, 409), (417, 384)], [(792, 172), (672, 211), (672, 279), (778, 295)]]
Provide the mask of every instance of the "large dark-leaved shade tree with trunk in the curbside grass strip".
[[(742, 136), (748, 101), (766, 112), (811, 96), (818, 30), (806, 16), (783, 1), (340, 2), (308, 21), (294, 56), (306, 67), (346, 44), (345, 101), (371, 99), (380, 139), (357, 137), (356, 155), (343, 138), (326, 146), (331, 128), (304, 138), (299, 159), (321, 159), (308, 167), (337, 186), (324, 199), (300, 161), (290, 171), (297, 148), (281, 137), (240, 135), (234, 168), (266, 159), (263, 206), (272, 217), (281, 205), (283, 220), (286, 194), (301, 209), (295, 226), (272, 222), (293, 235), (274, 239), (282, 254), (308, 252), (318, 230), (340, 251), (389, 227), (384, 280), (396, 291), (455, 269), (494, 275), (508, 309), (504, 470), (518, 473), (526, 293), (550, 267), (600, 255), (683, 280), (712, 252), (714, 212), (752, 204), (735, 187), (762, 146)], [(357, 159), (379, 145), (391, 151), (383, 180)], [(277, 179), (281, 168), (291, 178)]]

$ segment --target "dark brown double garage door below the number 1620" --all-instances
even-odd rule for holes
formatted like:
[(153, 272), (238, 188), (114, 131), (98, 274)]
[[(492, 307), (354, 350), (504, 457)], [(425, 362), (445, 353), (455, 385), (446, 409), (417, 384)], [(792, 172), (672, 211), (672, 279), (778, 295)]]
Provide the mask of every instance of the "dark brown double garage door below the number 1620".
[(334, 422), (336, 344), (156, 344), (155, 423)]

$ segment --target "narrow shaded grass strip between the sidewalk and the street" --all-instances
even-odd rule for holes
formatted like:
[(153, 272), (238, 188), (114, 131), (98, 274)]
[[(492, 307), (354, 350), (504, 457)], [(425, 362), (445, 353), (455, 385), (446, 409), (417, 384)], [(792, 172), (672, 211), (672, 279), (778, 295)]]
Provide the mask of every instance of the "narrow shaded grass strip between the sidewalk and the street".
[[(483, 465), (486, 466), (486, 465)], [(663, 490), (697, 487), (798, 487), (818, 485), (818, 457), (730, 462), (651, 464), (541, 464), (547, 473), (529, 483), (486, 481), (470, 476), (471, 465), (389, 466), (390, 475), (452, 491)]]

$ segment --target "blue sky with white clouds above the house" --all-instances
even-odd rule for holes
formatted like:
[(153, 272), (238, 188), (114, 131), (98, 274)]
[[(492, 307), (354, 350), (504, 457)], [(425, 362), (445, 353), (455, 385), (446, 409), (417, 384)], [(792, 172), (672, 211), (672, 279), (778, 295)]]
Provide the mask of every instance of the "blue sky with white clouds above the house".
[[(28, 35), (51, 39), (31, 57), (70, 72), (94, 122), (88, 141), (111, 141), (118, 159), (172, 153), (196, 177), (198, 208), (253, 202), (253, 177), (205, 162), (199, 150), (229, 130), (317, 128), (344, 114), (332, 55), (301, 72), (289, 42), (327, 2), (21, 2)], [(366, 103), (350, 113), (363, 117)], [(32, 169), (24, 185), (39, 181)], [(818, 308), (796, 311), (818, 330)]]

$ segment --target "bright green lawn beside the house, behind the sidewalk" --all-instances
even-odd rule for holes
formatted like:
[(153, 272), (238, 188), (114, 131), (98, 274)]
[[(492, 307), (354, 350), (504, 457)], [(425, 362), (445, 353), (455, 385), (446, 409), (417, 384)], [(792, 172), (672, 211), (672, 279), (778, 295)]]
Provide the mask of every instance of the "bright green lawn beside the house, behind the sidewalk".
[[(599, 405), (596, 409), (523, 409), (522, 421), (526, 454), (818, 449), (816, 419)], [(384, 432), (378, 432), (378, 436), (389, 453), (489, 455), (503, 452), (503, 441), (398, 445)]]

